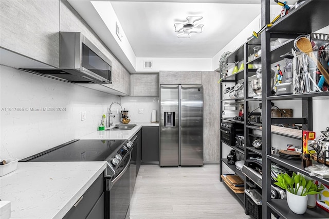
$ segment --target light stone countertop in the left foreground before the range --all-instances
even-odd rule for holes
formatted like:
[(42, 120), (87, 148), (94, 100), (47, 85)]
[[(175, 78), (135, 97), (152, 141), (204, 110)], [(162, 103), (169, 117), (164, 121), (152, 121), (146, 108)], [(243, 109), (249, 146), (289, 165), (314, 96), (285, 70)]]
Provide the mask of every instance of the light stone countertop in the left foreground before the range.
[(11, 218), (62, 218), (106, 168), (106, 162), (19, 162), (0, 177)]

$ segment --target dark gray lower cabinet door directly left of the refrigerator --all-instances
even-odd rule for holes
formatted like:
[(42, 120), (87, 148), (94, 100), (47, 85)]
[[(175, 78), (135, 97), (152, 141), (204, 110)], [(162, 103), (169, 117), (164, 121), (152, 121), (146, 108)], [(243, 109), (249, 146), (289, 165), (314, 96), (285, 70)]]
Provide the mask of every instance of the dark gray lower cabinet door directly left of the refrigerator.
[(159, 127), (142, 127), (142, 162), (159, 162)]

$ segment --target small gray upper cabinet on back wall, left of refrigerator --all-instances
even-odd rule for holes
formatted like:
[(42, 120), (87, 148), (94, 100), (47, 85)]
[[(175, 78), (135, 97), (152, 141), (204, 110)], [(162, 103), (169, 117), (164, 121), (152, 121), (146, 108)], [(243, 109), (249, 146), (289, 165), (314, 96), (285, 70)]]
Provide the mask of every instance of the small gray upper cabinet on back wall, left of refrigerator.
[(131, 75), (131, 96), (159, 96), (159, 74)]

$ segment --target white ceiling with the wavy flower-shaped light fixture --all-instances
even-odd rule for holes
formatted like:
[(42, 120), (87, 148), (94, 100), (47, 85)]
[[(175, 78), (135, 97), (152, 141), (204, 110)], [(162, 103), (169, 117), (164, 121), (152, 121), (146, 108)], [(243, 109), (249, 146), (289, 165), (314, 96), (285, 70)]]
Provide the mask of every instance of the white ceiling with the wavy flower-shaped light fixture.
[[(179, 66), (184, 66), (180, 60), (187, 60), (181, 58), (211, 60), (261, 12), (260, 0), (67, 1), (130, 72), (143, 72), (140, 60), (145, 58), (165, 60), (157, 63), (159, 69), (168, 66), (168, 60)], [(267, 1), (278, 6), (274, 0)], [(195, 22), (204, 25), (203, 32), (177, 38), (174, 24), (186, 24), (188, 16), (203, 17)], [(123, 30), (120, 41), (115, 32), (117, 21)]]

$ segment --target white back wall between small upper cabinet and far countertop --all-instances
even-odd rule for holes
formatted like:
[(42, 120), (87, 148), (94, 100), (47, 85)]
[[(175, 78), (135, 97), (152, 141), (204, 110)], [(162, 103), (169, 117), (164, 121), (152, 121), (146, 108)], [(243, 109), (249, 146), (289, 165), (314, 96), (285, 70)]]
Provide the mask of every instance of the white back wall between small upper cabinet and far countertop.
[[(151, 113), (157, 111), (157, 121), (159, 121), (159, 98), (158, 97), (121, 97), (121, 105), (129, 111), (131, 123), (151, 122)], [(138, 109), (143, 109), (143, 114), (138, 113)]]

